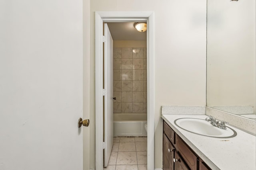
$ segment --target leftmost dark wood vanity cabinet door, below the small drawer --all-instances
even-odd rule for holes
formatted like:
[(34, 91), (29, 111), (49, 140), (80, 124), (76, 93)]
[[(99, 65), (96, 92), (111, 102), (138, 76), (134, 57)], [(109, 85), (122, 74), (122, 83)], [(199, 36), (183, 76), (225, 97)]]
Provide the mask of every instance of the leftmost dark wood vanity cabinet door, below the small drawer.
[(174, 147), (165, 134), (163, 138), (163, 170), (174, 170)]

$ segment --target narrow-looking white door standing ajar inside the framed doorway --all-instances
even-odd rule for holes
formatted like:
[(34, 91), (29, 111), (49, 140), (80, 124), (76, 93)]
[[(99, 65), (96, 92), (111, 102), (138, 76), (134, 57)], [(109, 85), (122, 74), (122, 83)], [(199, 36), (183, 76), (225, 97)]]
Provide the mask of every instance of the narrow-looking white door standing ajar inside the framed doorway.
[(108, 160), (113, 146), (113, 39), (104, 23), (104, 88), (107, 90), (104, 97), (104, 166)]

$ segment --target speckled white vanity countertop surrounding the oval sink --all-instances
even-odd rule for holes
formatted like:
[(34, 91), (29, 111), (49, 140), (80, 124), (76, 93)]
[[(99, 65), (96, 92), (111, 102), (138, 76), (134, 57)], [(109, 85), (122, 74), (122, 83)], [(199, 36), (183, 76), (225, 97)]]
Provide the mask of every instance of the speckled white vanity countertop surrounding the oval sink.
[(162, 119), (198, 154), (212, 170), (256, 170), (256, 136), (231, 127), (232, 138), (196, 135), (174, 124), (179, 118), (205, 119), (207, 115), (162, 115)]

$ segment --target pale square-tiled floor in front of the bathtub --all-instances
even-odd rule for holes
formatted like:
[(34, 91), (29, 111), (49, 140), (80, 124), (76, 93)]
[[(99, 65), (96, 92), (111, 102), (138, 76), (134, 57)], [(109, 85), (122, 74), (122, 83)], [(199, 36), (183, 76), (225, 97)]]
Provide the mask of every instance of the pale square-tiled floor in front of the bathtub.
[(114, 137), (104, 170), (147, 170), (147, 137)]

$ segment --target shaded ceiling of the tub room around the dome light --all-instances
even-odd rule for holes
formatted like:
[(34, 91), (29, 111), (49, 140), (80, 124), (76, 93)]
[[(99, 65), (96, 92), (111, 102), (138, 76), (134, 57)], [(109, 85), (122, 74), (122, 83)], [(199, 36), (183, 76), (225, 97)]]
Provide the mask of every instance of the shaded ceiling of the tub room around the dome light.
[(147, 31), (139, 32), (133, 25), (134, 22), (108, 22), (113, 40), (146, 41)]

